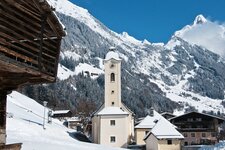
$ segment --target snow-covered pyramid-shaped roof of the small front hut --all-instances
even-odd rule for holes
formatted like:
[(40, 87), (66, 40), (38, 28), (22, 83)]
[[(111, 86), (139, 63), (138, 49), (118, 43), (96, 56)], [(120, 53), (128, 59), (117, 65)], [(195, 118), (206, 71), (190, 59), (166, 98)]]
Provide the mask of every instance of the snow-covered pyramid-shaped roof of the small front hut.
[(178, 132), (173, 124), (171, 124), (165, 118), (161, 118), (156, 125), (153, 127), (151, 132), (149, 132), (145, 137), (146, 140), (151, 134), (153, 134), (157, 139), (183, 139), (184, 136)]

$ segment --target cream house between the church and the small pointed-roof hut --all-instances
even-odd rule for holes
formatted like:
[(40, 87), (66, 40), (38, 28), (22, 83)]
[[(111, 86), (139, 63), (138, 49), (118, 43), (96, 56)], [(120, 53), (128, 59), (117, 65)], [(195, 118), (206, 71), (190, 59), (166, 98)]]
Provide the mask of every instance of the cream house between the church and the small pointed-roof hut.
[(150, 110), (150, 115), (147, 115), (134, 127), (135, 142), (137, 145), (145, 145), (144, 137), (152, 130), (160, 118), (162, 118), (162, 116), (157, 111)]

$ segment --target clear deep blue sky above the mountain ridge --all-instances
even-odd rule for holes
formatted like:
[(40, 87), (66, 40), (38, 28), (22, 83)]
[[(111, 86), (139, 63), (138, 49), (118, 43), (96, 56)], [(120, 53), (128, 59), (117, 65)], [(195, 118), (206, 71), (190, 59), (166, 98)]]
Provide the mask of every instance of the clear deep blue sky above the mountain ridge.
[(225, 23), (225, 0), (70, 0), (111, 30), (166, 43), (198, 14)]

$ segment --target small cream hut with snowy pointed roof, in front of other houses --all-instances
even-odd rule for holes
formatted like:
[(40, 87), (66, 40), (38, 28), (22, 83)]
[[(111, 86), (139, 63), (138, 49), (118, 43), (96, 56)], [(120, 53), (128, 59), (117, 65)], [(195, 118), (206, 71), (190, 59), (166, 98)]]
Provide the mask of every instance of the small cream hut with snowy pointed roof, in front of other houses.
[(160, 118), (144, 137), (146, 150), (180, 150), (183, 135), (165, 118)]

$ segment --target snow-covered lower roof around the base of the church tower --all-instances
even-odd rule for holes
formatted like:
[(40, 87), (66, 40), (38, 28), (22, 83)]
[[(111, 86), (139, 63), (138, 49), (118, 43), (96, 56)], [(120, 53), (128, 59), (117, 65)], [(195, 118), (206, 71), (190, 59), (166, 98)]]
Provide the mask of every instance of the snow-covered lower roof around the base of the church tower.
[(105, 107), (96, 115), (129, 115), (129, 114), (120, 107)]

